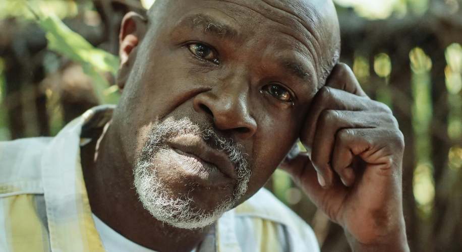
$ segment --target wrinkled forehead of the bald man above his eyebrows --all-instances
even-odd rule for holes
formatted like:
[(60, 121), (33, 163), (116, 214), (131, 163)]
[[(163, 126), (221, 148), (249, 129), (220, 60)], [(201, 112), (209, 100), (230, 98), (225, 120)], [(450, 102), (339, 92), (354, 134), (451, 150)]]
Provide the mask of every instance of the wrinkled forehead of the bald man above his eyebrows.
[(280, 29), (305, 45), (322, 39), (321, 15), (305, 0), (187, 0), (181, 1), (180, 6), (176, 8), (179, 14), (176, 16), (199, 13), (201, 9), (223, 23), (238, 24), (240, 31), (255, 28), (276, 32)]

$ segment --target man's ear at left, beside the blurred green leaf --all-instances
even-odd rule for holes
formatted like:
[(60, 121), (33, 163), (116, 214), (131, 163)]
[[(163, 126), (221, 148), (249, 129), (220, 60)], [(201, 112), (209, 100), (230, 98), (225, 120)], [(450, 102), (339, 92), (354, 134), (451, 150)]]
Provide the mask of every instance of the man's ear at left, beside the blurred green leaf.
[(135, 12), (129, 12), (122, 20), (121, 32), (119, 36), (120, 49), (119, 56), (121, 63), (117, 74), (117, 86), (121, 91), (130, 76), (133, 63), (138, 51), (138, 44), (146, 34), (147, 20)]

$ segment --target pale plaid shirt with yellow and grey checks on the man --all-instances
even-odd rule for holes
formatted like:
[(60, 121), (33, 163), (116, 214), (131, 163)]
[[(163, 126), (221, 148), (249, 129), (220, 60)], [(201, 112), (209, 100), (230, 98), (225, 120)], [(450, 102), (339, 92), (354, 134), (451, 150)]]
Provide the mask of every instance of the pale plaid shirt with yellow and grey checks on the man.
[[(85, 131), (103, 127), (99, 106), (54, 138), (0, 142), (0, 251), (105, 251), (91, 214), (80, 162)], [(312, 229), (262, 189), (216, 223), (198, 252), (319, 251)]]

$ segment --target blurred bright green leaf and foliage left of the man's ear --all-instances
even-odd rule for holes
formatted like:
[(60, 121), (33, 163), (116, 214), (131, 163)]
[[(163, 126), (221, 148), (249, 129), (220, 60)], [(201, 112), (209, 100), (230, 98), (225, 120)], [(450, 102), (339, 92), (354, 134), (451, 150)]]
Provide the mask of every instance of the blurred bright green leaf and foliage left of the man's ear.
[(119, 68), (119, 58), (93, 47), (81, 35), (67, 27), (61, 19), (77, 14), (74, 1), (62, 0), (2, 0), (0, 20), (19, 18), (35, 20), (46, 32), (48, 49), (80, 64), (84, 73), (91, 77), (95, 92), (101, 103), (117, 104), (120, 95), (117, 86), (109, 87), (102, 72), (114, 77)]

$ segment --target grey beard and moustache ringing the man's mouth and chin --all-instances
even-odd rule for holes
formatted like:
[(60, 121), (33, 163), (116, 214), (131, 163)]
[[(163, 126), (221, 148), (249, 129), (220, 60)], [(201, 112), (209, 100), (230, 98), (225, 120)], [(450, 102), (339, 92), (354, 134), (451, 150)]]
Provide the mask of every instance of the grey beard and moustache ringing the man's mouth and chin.
[[(233, 195), (219, 203), (213, 211), (205, 212), (193, 207), (194, 200), (188, 195), (173, 196), (166, 190), (168, 187), (165, 181), (157, 175), (158, 169), (153, 163), (156, 157), (162, 156), (166, 151), (164, 142), (182, 135), (201, 136), (208, 144), (226, 153), (236, 166), (238, 182)], [(239, 145), (232, 140), (217, 136), (212, 128), (201, 129), (188, 118), (167, 119), (154, 125), (147, 139), (134, 169), (134, 183), (144, 208), (157, 220), (182, 229), (203, 228), (232, 209), (246, 193), (251, 175), (249, 163), (243, 157)]]

